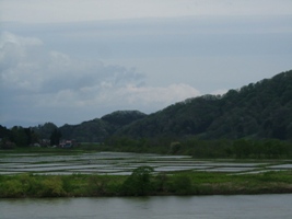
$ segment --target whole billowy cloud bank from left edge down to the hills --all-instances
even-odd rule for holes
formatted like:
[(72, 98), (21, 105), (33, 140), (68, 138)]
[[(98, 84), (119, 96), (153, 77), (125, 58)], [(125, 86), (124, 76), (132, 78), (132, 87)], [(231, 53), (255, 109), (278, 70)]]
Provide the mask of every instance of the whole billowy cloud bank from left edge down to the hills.
[(116, 110), (152, 113), (200, 94), (185, 83), (148, 85), (135, 68), (72, 58), (36, 37), (3, 32), (0, 49), (0, 116), (8, 125), (23, 118), (75, 124)]

